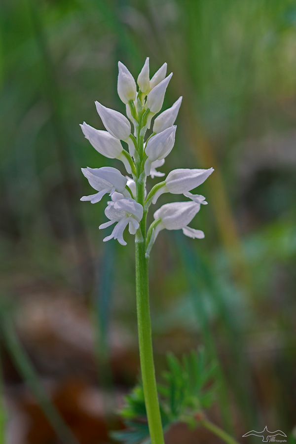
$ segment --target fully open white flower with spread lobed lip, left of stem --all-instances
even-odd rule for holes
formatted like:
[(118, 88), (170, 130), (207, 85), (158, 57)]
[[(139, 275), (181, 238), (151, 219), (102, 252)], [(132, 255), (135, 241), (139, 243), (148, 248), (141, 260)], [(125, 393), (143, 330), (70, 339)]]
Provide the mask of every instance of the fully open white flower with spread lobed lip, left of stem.
[[(143, 217), (143, 207), (137, 203), (134, 199), (128, 197), (122, 197), (122, 194), (113, 193), (112, 202), (109, 202), (108, 207), (105, 210), (105, 215), (110, 222), (103, 223), (99, 226), (100, 229), (107, 228), (115, 222), (118, 222), (110, 236), (105, 237), (104, 242), (110, 239), (117, 239), (119, 244), (126, 245), (123, 239), (123, 231), (127, 224), (129, 225), (129, 232), (136, 234)], [(118, 200), (117, 200), (118, 199)]]

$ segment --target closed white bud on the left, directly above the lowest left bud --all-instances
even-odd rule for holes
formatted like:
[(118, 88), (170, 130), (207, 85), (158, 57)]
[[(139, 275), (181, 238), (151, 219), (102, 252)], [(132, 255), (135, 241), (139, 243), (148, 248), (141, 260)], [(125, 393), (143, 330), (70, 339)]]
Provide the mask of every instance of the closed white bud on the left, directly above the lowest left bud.
[(121, 112), (106, 108), (99, 102), (95, 102), (98, 114), (107, 131), (116, 139), (125, 140), (131, 134), (131, 124)]

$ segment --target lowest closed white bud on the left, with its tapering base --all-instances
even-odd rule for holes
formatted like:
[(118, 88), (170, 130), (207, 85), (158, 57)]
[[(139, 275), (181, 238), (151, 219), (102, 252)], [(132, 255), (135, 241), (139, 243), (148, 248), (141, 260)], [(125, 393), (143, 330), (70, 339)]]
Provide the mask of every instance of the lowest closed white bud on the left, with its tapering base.
[(131, 173), (131, 166), (123, 154), (123, 148), (118, 139), (111, 136), (108, 131), (97, 130), (87, 123), (83, 122), (82, 132), (91, 145), (101, 154), (110, 159), (119, 159), (124, 163), (126, 171)]

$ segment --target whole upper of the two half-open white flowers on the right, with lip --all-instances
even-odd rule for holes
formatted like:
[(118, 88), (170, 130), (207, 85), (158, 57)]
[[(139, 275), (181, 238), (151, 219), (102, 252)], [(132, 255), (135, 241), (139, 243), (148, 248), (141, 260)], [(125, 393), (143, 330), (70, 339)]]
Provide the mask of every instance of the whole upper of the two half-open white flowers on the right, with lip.
[(188, 191), (201, 185), (213, 171), (213, 168), (207, 170), (178, 168), (177, 170), (171, 171), (165, 180), (165, 184), (155, 192), (152, 203), (155, 204), (161, 194), (172, 193), (184, 194), (196, 203), (206, 204), (207, 202), (204, 202), (205, 198), (203, 196), (200, 196), (200, 194), (191, 194), (188, 193)]

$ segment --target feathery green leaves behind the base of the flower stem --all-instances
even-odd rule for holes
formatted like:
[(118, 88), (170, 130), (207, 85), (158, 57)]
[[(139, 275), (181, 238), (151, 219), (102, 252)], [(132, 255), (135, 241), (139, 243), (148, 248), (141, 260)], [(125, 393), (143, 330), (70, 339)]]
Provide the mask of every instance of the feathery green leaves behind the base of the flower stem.
[[(162, 426), (167, 430), (182, 421), (190, 428), (197, 425), (196, 414), (209, 408), (215, 398), (216, 384), (211, 384), (216, 364), (207, 365), (203, 349), (191, 351), (182, 360), (173, 353), (167, 354), (168, 370), (163, 373), (165, 383), (158, 384)], [(144, 392), (141, 384), (125, 397), (120, 410), (127, 429), (112, 432), (112, 438), (125, 444), (148, 444), (149, 431)]]

